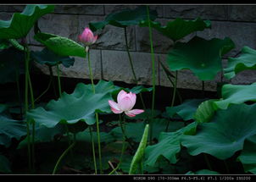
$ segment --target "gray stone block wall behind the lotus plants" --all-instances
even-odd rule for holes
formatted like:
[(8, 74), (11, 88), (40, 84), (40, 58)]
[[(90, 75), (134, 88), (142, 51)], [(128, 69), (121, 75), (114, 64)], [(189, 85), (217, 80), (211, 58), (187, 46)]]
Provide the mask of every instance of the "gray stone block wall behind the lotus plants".
[[(137, 5), (56, 5), (52, 14), (46, 14), (39, 20), (39, 27), (43, 32), (65, 36), (77, 41), (78, 35), (91, 21), (103, 20), (106, 15), (122, 8), (136, 8)], [(24, 6), (1, 5), (0, 19), (10, 19), (14, 12), (21, 12)], [(256, 5), (151, 5), (156, 9), (158, 21), (164, 25), (167, 21), (181, 17), (183, 19), (209, 19), (212, 28), (198, 31), (186, 36), (182, 41), (188, 41), (192, 36), (203, 38), (224, 38), (228, 36), (235, 42), (236, 48), (225, 55), (225, 66), (228, 57), (237, 56), (242, 47), (256, 48)], [(150, 57), (150, 43), (147, 27), (131, 26), (127, 30), (139, 84), (152, 85), (152, 62)], [(124, 30), (107, 25), (104, 30), (97, 32), (99, 39), (92, 47), (92, 72), (95, 79), (119, 80), (134, 83), (131, 74), (127, 52), (125, 52)], [(28, 36), (31, 48), (42, 50), (40, 43), (33, 39), (33, 31)], [(153, 48), (156, 60), (157, 85), (169, 86), (159, 61), (165, 62), (166, 55), (173, 46), (173, 42), (153, 30)], [(47, 67), (35, 64), (42, 74), (49, 74)], [(69, 69), (61, 67), (64, 77), (89, 78), (86, 60), (75, 58), (74, 66)], [(56, 74), (56, 72), (54, 72)], [(178, 88), (201, 90), (202, 81), (198, 80), (191, 71), (182, 70), (178, 74)], [(206, 81), (205, 90), (215, 91), (220, 74), (213, 81)], [(230, 82), (233, 84), (248, 84), (256, 81), (254, 71), (244, 71)]]

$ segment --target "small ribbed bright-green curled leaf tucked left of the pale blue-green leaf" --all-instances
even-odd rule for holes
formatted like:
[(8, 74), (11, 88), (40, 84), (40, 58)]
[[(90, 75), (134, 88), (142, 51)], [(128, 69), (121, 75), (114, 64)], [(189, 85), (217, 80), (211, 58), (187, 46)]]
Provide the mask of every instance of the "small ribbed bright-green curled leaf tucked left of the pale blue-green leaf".
[(210, 99), (207, 101), (202, 102), (194, 114), (194, 119), (198, 123), (206, 123), (209, 122), (210, 119), (214, 116), (215, 109), (214, 109), (214, 101), (217, 99)]

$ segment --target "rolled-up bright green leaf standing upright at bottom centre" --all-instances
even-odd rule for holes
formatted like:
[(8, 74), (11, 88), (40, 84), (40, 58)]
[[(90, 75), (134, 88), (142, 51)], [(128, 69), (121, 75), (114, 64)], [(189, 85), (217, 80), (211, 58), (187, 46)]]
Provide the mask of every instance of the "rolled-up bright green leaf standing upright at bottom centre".
[(136, 153), (131, 161), (131, 167), (129, 174), (136, 174), (139, 165), (142, 165), (142, 160), (144, 157), (145, 148), (147, 146), (147, 135), (148, 135), (149, 124), (146, 124), (145, 130), (142, 135), (142, 140), (136, 150)]

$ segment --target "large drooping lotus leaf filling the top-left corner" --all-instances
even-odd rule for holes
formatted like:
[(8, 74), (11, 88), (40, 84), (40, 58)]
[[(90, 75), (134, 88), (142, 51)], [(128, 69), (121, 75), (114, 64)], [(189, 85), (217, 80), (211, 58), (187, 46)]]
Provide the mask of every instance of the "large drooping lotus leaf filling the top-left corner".
[(0, 20), (0, 38), (19, 39), (27, 36), (37, 19), (53, 12), (54, 5), (27, 5), (21, 14), (8, 21)]

